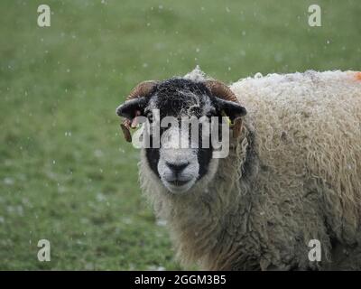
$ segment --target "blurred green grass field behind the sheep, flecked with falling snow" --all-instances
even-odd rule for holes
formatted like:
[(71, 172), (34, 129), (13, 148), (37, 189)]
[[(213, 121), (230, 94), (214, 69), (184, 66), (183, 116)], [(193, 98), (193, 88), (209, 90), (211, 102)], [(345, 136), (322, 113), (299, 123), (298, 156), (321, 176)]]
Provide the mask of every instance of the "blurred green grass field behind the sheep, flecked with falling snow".
[[(314, 3), (0, 1), (0, 269), (180, 268), (117, 105), (139, 81), (196, 64), (226, 82), (360, 70), (360, 1), (316, 1), (322, 27), (310, 27)], [(37, 260), (41, 238), (51, 262)]]

